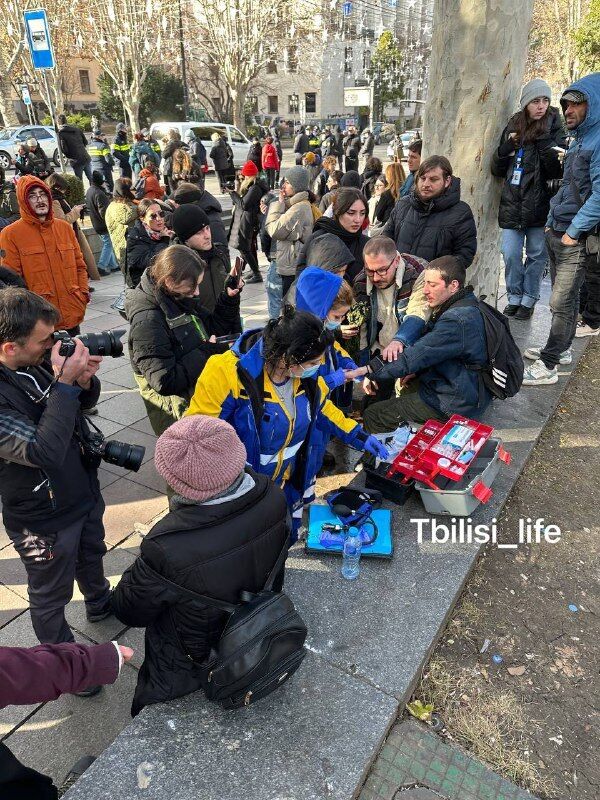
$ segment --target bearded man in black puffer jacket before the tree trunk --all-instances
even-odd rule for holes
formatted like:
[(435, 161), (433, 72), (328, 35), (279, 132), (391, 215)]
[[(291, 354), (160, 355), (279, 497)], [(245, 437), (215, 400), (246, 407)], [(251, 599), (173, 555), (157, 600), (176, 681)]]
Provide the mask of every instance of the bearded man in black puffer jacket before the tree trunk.
[(444, 156), (421, 162), (413, 190), (396, 203), (383, 231), (399, 253), (433, 261), (454, 256), (467, 269), (477, 252), (473, 212), (460, 199), (460, 179)]

